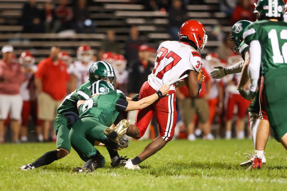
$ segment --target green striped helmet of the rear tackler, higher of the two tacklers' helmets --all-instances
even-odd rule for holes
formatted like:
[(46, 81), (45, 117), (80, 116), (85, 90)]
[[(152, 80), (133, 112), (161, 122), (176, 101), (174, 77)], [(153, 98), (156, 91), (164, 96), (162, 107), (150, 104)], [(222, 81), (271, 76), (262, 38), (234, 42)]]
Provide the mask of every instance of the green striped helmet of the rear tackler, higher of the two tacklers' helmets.
[(105, 80), (115, 86), (116, 75), (111, 64), (105, 61), (97, 61), (90, 67), (89, 80), (92, 83), (98, 80)]

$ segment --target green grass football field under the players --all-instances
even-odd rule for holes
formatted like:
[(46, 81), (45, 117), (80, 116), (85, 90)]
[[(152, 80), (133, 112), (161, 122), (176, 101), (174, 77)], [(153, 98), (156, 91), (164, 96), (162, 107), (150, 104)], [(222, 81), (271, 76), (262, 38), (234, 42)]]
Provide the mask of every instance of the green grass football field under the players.
[[(135, 157), (149, 141), (131, 141), (120, 155)], [(83, 161), (72, 150), (67, 157), (32, 171), (21, 171), (53, 143), (0, 145), (0, 190), (287, 190), (287, 153), (274, 139), (266, 147), (263, 170), (246, 172), (239, 163), (252, 152), (251, 140), (171, 141), (141, 164), (140, 171), (111, 168), (105, 148), (104, 168), (71, 172)]]

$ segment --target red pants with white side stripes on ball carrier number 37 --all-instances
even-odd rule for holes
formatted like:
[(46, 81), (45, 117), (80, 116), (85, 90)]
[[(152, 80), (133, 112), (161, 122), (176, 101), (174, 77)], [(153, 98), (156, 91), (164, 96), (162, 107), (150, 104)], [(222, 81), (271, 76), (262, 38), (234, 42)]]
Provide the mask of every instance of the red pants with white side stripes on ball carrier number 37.
[[(154, 93), (156, 93), (156, 90), (154, 90), (146, 81), (141, 87), (139, 99), (145, 98)], [(165, 141), (170, 141), (173, 137), (177, 120), (177, 112), (175, 110), (175, 93), (172, 93), (169, 96), (164, 96), (150, 106), (137, 111), (137, 115), (135, 116), (135, 125), (140, 131), (140, 138), (146, 132), (154, 113), (158, 122), (159, 136)]]

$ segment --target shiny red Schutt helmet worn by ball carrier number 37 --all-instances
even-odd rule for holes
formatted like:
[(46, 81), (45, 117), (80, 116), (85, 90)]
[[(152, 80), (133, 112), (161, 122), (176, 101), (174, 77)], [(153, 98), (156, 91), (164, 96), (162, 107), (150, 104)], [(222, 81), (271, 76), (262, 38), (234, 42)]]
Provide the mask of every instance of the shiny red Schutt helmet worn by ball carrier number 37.
[(206, 45), (207, 35), (205, 34), (205, 28), (199, 21), (186, 21), (181, 25), (179, 31), (179, 40), (189, 39), (197, 46), (197, 52), (201, 52)]

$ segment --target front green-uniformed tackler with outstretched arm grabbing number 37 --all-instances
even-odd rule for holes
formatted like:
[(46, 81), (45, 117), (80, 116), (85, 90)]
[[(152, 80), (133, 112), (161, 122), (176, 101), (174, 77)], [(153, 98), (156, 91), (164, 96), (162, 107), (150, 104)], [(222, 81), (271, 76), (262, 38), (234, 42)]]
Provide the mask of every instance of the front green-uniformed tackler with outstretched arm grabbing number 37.
[[(122, 120), (115, 131), (109, 127), (115, 122), (119, 111), (132, 111), (145, 108), (167, 95), (170, 86), (164, 84), (160, 90), (139, 101), (126, 101), (126, 96), (120, 90), (114, 90), (109, 82), (99, 80), (92, 84), (91, 98), (80, 107), (78, 120), (72, 127), (69, 139), (72, 147), (80, 158), (85, 161), (83, 168), (76, 167), (74, 171), (83, 169), (93, 171), (105, 165), (105, 159), (94, 147), (95, 141), (116, 149), (127, 147), (127, 142), (121, 138), (128, 128), (128, 121)], [(115, 134), (115, 132), (117, 132)], [(116, 140), (117, 145), (111, 140)]]

